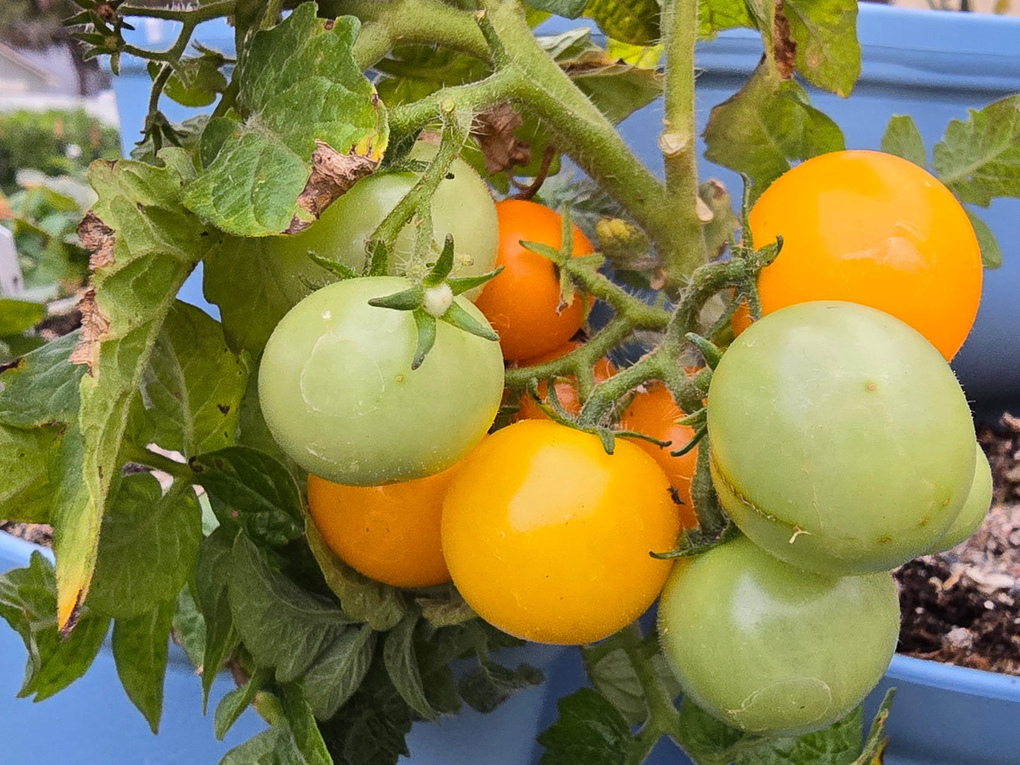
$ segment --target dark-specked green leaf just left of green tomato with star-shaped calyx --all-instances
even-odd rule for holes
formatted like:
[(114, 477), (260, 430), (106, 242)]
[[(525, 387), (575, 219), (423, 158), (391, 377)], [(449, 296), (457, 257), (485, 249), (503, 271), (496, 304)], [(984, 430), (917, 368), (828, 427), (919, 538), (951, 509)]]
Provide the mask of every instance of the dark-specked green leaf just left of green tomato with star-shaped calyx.
[(141, 415), (130, 422), (133, 440), (186, 457), (230, 446), (247, 377), (245, 361), (226, 347), (219, 323), (176, 301), (133, 404)]

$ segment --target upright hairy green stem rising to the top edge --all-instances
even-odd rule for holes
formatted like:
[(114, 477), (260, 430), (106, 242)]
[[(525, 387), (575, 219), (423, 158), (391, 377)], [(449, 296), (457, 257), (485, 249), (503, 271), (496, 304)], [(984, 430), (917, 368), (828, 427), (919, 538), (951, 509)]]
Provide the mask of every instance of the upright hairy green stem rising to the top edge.
[(659, 136), (666, 173), (666, 208), (673, 236), (659, 250), (666, 284), (675, 293), (705, 262), (705, 240), (698, 218), (698, 154), (695, 134), (695, 42), (698, 0), (666, 0), (662, 11), (666, 76), (664, 128)]

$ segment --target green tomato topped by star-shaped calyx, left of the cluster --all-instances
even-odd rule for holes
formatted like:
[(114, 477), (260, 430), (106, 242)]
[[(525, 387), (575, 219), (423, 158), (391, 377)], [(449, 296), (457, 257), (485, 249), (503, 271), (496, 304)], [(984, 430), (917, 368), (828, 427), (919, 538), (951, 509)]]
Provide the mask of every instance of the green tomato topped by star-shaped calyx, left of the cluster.
[(503, 393), (499, 346), (440, 321), (435, 346), (412, 370), (410, 311), (368, 305), (409, 287), (399, 276), (329, 285), (291, 309), (269, 338), (259, 366), (262, 413), (309, 472), (350, 486), (420, 478), (450, 467), (492, 424)]

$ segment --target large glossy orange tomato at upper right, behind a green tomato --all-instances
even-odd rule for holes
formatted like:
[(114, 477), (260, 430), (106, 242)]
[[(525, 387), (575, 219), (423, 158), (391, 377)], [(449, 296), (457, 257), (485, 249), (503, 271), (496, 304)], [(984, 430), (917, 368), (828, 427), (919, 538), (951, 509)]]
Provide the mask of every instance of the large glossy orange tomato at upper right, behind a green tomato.
[(782, 237), (758, 279), (763, 313), (811, 300), (873, 306), (947, 359), (981, 295), (981, 253), (960, 203), (912, 162), (875, 151), (823, 154), (775, 181), (750, 213), (756, 247)]

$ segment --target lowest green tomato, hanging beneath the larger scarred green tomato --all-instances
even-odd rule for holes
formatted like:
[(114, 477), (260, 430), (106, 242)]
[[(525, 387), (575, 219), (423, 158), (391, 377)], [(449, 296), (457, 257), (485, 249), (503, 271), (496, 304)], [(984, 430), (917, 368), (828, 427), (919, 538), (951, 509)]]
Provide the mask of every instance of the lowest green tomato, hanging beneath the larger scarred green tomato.
[(888, 573), (812, 574), (746, 538), (677, 560), (659, 600), (683, 693), (752, 733), (801, 735), (842, 718), (881, 678), (899, 631)]

